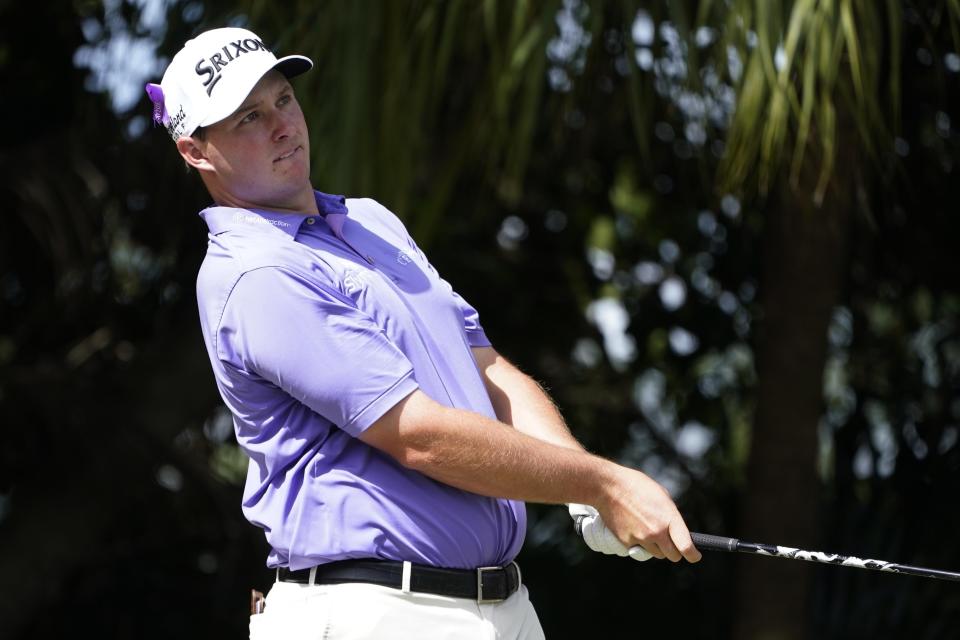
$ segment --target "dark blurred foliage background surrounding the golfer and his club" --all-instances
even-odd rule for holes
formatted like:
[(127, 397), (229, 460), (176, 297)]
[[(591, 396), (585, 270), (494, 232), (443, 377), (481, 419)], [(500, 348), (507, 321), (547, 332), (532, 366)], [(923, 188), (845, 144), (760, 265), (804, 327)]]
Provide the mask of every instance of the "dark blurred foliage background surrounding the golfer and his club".
[[(4, 638), (246, 637), (269, 587), (199, 331), (209, 200), (143, 92), (226, 25), (317, 63), (315, 186), (403, 218), (692, 530), (960, 570), (956, 0), (2, 0)], [(550, 638), (960, 629), (956, 583), (634, 563), (557, 507), (519, 561)]]

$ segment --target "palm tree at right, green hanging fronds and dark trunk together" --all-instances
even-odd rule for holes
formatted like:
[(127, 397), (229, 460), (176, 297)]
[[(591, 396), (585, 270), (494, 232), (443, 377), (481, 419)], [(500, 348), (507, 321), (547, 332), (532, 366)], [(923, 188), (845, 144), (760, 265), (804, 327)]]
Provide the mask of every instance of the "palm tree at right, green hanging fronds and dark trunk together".
[[(933, 22), (949, 22), (955, 36), (960, 6), (934, 5)], [(817, 542), (827, 327), (843, 300), (851, 225), (875, 206), (868, 194), (899, 126), (902, 14), (894, 1), (699, 3), (694, 27), (718, 36), (699, 52), (701, 68), (726, 70), (737, 93), (716, 184), (764, 225), (744, 537)], [(735, 637), (805, 637), (809, 571), (742, 568)]]

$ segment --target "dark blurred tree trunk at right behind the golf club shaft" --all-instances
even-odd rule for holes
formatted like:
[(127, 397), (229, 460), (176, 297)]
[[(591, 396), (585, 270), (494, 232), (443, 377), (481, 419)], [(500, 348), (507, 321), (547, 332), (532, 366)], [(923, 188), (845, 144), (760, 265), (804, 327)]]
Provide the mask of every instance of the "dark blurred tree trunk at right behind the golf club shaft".
[[(821, 207), (812, 204), (817, 176), (809, 170), (800, 189), (784, 181), (779, 206), (764, 218), (757, 409), (736, 533), (744, 540), (818, 548), (817, 430), (827, 327), (841, 300), (854, 206), (848, 161), (837, 159)], [(734, 637), (807, 637), (812, 568), (746, 556), (738, 567)]]

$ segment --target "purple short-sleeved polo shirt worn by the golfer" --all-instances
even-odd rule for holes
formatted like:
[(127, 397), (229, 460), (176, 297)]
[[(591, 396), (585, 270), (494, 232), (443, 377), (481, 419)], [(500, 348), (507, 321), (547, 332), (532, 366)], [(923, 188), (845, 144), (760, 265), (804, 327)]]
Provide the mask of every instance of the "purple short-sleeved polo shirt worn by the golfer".
[(250, 457), (243, 512), (268, 566), (345, 558), (503, 565), (522, 502), (404, 468), (357, 436), (416, 389), (496, 418), (476, 310), (373, 200), (316, 192), (319, 216), (210, 207), (197, 278), (217, 386)]

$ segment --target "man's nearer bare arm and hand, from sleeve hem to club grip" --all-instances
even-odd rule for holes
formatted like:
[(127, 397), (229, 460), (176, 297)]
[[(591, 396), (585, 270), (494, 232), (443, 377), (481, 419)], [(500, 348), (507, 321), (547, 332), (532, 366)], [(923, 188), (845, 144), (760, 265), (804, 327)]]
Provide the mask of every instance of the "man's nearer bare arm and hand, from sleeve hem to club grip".
[(480, 495), (597, 508), (626, 545), (691, 562), (700, 553), (663, 487), (579, 448), (545, 442), (414, 391), (360, 434), (404, 466)]

